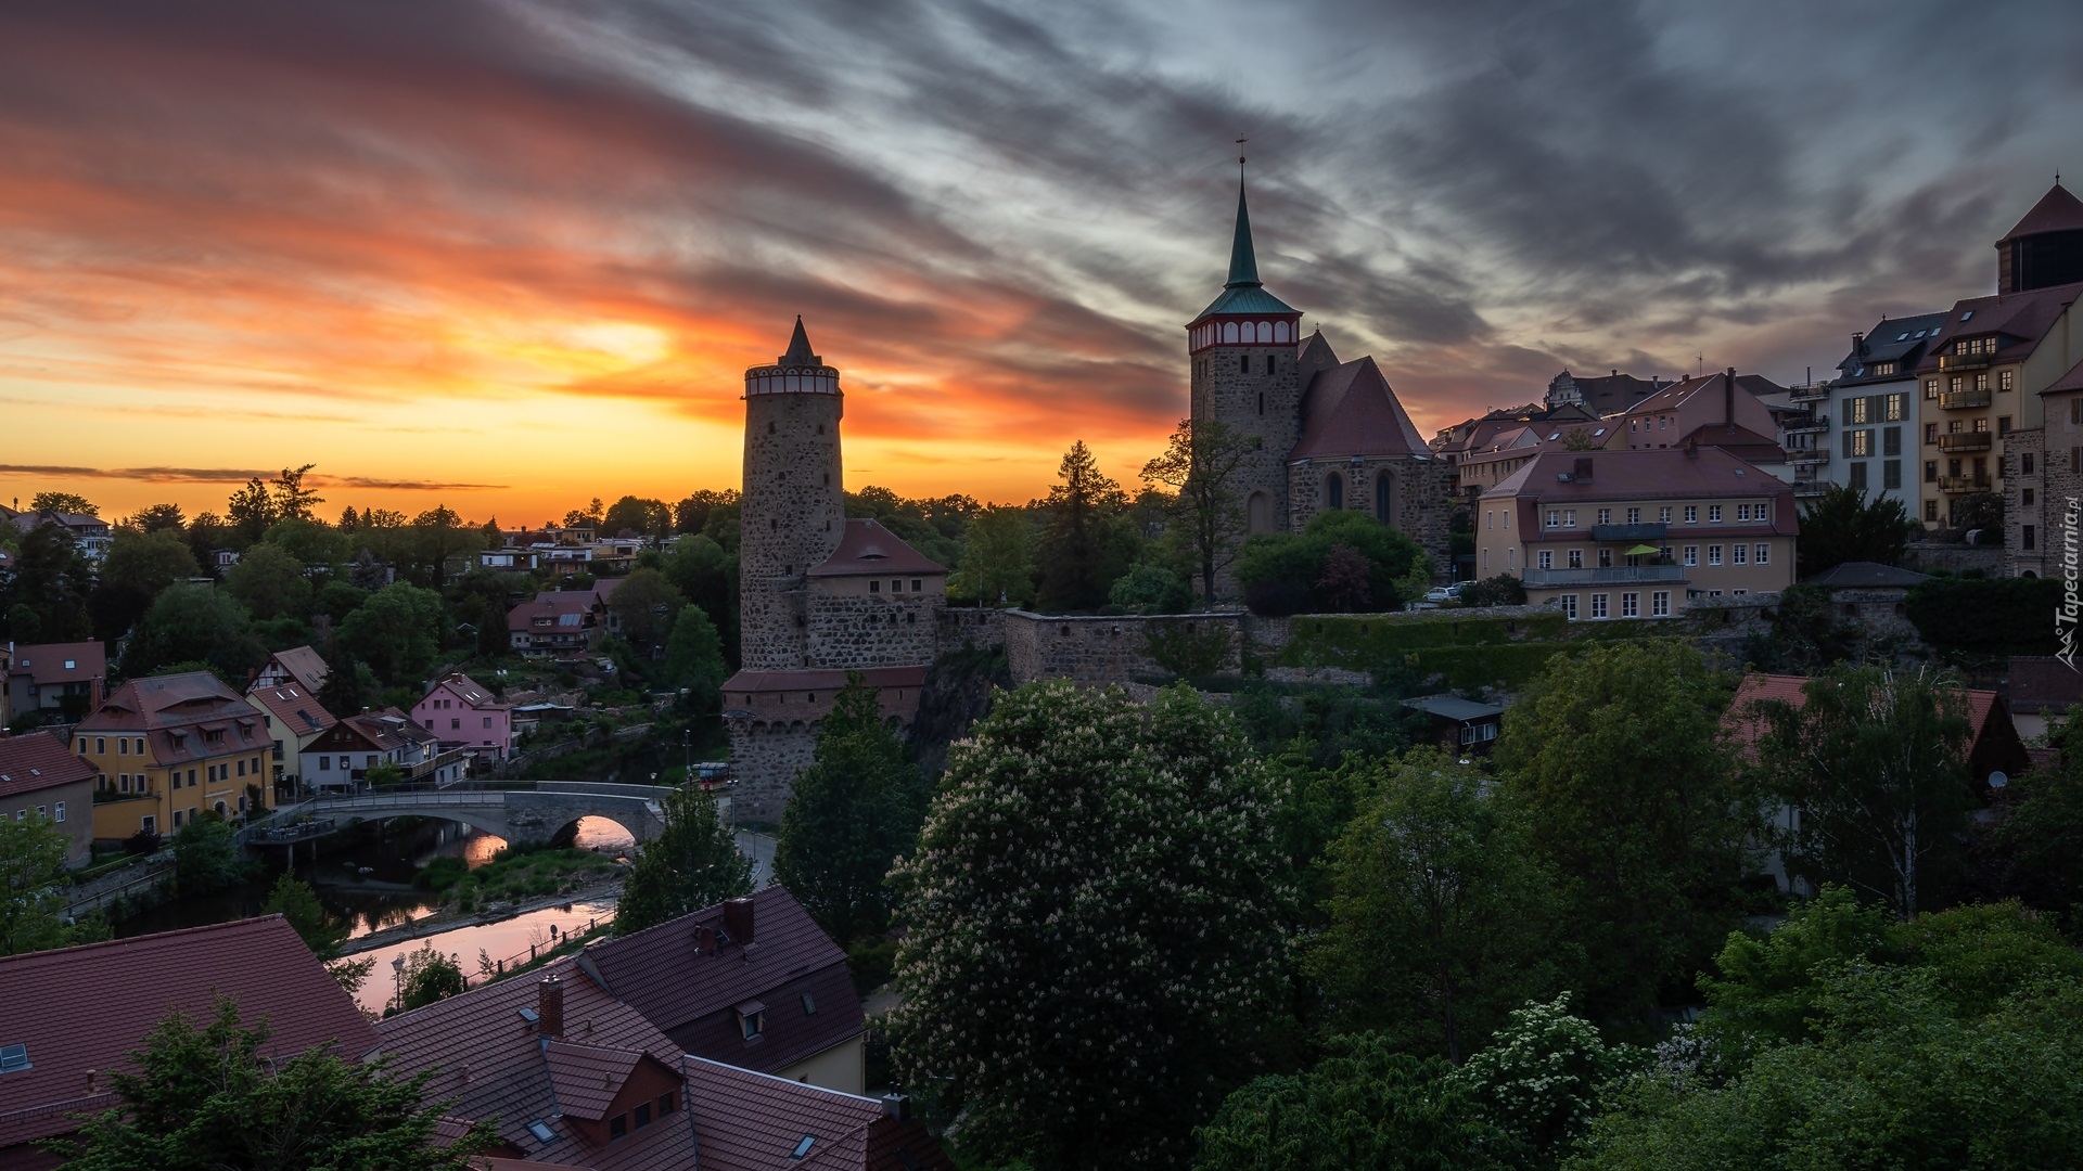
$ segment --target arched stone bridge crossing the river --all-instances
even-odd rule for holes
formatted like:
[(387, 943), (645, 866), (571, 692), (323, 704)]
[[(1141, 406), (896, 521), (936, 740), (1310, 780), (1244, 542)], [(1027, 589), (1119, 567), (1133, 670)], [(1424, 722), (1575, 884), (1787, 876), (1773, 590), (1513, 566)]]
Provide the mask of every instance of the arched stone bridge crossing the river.
[(325, 838), (354, 821), (385, 817), (440, 817), (483, 829), (517, 846), (544, 844), (581, 817), (606, 817), (637, 842), (664, 827), (658, 800), (667, 786), (612, 786), (587, 781), (542, 781), (533, 788), (479, 790), (365, 790), (319, 796), (275, 811), (267, 821), (240, 831), (246, 846), (296, 846)]

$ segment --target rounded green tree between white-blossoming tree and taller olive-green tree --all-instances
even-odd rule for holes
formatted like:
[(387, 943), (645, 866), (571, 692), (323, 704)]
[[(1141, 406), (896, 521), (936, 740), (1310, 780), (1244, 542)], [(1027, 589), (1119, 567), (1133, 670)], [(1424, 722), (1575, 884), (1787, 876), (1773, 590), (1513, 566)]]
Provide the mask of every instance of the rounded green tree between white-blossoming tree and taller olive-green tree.
[(1331, 927), (1308, 956), (1335, 1027), (1460, 1063), (1554, 994), (1554, 892), (1487, 777), (1437, 748), (1375, 763), (1377, 794), (1329, 852)]

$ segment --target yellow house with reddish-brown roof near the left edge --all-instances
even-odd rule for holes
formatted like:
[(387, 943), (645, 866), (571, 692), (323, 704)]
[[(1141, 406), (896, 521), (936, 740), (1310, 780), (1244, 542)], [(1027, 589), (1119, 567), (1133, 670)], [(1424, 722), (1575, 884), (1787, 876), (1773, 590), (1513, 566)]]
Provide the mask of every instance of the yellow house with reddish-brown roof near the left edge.
[(173, 833), (204, 808), (244, 815), (273, 748), (262, 715), (206, 671), (131, 679), (73, 727), (96, 771), (98, 840)]

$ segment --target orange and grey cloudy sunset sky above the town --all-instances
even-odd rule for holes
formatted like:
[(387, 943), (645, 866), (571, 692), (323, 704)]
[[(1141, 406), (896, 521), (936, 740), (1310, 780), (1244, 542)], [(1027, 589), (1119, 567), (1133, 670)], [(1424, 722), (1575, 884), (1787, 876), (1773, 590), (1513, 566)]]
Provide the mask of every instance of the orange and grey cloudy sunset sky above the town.
[(1427, 433), (1798, 381), (2083, 177), (2083, 4), (15, 0), (0, 502), (729, 488), (798, 313), (850, 488), (1131, 481), (1235, 138), (1266, 285)]

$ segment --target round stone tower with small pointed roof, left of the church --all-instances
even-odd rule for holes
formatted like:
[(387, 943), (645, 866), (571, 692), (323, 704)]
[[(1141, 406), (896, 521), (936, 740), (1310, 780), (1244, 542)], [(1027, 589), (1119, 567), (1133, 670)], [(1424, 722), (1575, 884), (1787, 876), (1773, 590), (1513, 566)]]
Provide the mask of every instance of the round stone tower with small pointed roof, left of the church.
[(796, 319), (787, 352), (746, 371), (746, 485), (739, 608), (746, 671), (800, 671), (808, 658), (804, 571), (846, 531), (839, 483), (839, 371), (810, 352)]

